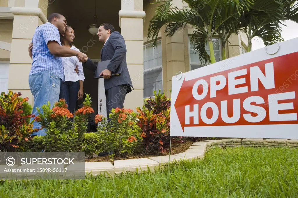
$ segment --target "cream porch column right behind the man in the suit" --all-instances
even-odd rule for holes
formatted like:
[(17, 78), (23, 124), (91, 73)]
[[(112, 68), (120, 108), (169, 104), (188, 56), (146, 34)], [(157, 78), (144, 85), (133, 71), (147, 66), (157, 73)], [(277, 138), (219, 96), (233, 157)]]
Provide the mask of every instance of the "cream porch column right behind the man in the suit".
[(144, 18), (142, 0), (122, 0), (119, 11), (119, 26), (125, 39), (126, 62), (134, 90), (125, 96), (124, 107), (136, 111), (143, 105), (144, 69)]

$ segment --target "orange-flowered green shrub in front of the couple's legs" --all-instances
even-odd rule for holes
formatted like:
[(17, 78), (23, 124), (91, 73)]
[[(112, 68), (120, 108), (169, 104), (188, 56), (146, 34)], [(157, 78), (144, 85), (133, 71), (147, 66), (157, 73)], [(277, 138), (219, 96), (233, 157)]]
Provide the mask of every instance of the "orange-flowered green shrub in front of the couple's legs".
[[(62, 98), (50, 109), (50, 103), (42, 106), (43, 113), (38, 112), (39, 116), (35, 120), (42, 128), (46, 129), (46, 136), (43, 144), (45, 151), (50, 152), (76, 152), (82, 149), (84, 133), (87, 129), (87, 118), (91, 108), (91, 98), (85, 98), (84, 106), (78, 109), (75, 117), (67, 109), (67, 104)], [(73, 118), (73, 122), (72, 119)]]

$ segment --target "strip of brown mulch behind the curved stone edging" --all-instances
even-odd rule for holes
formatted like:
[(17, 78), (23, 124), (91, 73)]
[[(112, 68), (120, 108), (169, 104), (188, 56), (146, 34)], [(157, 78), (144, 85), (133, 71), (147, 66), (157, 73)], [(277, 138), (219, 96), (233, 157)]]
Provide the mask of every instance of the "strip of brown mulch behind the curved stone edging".
[[(171, 155), (175, 155), (177, 153), (183, 153), (185, 152), (194, 142), (200, 142), (204, 141), (210, 138), (196, 138), (195, 140), (186, 140), (183, 143), (172, 143), (172, 149), (171, 149)], [(114, 165), (115, 160), (126, 160), (126, 159), (137, 159), (137, 158), (150, 158), (150, 157), (156, 157), (156, 156), (163, 156), (163, 155), (169, 155), (169, 149), (164, 151), (163, 153), (151, 153), (151, 154), (132, 154), (129, 156), (126, 156), (124, 158), (114, 157), (114, 159), (111, 159), (108, 155), (105, 156), (97, 156), (93, 155), (93, 157), (86, 159), (86, 162), (103, 162), (103, 161), (109, 161)]]

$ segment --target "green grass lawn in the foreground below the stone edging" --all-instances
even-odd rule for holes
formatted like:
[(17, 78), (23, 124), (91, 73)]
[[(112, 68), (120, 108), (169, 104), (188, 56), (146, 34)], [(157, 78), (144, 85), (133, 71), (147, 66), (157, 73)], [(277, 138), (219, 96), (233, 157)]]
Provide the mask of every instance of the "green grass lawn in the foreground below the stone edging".
[(0, 197), (298, 197), (298, 150), (212, 149), (167, 170), (86, 180), (1, 181)]

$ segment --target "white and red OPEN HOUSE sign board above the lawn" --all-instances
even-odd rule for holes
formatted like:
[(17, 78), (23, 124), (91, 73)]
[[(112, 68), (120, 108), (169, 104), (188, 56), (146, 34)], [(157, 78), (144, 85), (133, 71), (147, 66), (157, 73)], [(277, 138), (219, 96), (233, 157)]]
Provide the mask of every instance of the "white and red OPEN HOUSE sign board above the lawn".
[(298, 38), (173, 76), (171, 136), (298, 139)]

